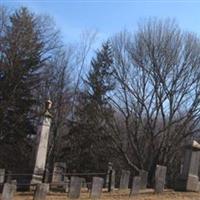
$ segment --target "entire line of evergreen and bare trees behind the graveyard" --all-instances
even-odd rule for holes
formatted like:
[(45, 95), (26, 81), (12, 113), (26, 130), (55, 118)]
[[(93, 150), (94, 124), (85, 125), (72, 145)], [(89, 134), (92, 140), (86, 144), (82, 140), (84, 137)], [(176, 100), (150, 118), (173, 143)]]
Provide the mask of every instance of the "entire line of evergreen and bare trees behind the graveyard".
[[(47, 168), (179, 171), (199, 139), (200, 40), (174, 20), (149, 18), (95, 52), (95, 32), (64, 44), (48, 16), (0, 7), (0, 167), (31, 170), (38, 121), (53, 101)], [(93, 55), (91, 58), (91, 54)]]

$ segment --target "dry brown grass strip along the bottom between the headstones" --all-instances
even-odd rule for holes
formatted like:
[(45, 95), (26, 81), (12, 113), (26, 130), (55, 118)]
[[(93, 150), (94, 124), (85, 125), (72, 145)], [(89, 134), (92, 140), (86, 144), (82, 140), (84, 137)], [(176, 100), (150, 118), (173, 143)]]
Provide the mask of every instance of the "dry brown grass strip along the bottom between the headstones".
[[(32, 193), (17, 193), (14, 200), (32, 200)], [(89, 193), (82, 192), (80, 200), (91, 200)], [(146, 190), (141, 194), (129, 198), (129, 191), (115, 191), (112, 193), (103, 192), (101, 200), (200, 200), (200, 193), (193, 192), (174, 192), (167, 190), (162, 194), (155, 194), (153, 190)], [(66, 193), (50, 193), (46, 200), (69, 200)]]

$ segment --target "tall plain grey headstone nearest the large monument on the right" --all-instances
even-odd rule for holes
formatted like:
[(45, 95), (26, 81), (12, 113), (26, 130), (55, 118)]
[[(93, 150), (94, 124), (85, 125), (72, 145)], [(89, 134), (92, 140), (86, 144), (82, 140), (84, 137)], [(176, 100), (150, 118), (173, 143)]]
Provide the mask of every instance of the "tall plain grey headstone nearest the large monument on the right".
[(155, 192), (161, 193), (165, 188), (165, 179), (166, 179), (167, 167), (157, 165), (155, 173)]

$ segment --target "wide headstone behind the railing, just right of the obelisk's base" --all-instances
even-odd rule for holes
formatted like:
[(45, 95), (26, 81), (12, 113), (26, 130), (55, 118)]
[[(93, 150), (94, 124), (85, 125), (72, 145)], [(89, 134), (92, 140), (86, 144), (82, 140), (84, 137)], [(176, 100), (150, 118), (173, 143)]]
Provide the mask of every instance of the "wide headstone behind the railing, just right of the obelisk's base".
[(52, 183), (64, 182), (65, 171), (66, 171), (66, 163), (63, 162), (54, 163)]

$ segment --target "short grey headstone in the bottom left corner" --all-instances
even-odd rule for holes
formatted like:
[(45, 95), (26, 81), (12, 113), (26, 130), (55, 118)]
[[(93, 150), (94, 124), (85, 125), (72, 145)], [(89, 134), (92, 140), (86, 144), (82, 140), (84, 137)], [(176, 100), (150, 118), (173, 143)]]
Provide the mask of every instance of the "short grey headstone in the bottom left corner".
[(5, 183), (3, 187), (1, 200), (13, 200), (16, 192), (16, 185), (13, 183)]

